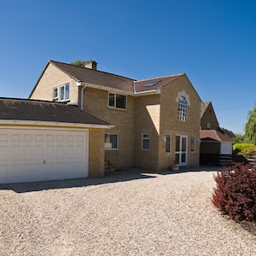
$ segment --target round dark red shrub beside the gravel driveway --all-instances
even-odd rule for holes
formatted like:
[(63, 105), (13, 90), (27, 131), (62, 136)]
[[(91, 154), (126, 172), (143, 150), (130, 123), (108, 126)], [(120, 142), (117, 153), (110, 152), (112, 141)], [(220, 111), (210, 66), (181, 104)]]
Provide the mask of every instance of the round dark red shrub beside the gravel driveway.
[(256, 221), (256, 169), (236, 163), (214, 176), (212, 203), (236, 221)]

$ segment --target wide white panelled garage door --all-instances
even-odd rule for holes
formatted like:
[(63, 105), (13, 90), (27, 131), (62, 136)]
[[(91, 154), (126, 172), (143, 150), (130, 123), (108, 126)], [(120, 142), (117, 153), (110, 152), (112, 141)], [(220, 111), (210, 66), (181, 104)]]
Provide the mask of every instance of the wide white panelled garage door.
[(88, 177), (88, 131), (0, 129), (0, 183)]

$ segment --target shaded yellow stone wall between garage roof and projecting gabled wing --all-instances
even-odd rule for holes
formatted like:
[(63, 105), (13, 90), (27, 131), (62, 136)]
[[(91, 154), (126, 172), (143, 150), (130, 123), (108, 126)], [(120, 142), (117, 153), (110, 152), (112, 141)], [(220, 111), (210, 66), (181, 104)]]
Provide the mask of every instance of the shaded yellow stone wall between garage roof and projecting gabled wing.
[(114, 128), (106, 133), (119, 135), (119, 149), (105, 150), (106, 160), (120, 169), (134, 166), (134, 97), (127, 96), (127, 109), (108, 108), (108, 90), (84, 89), (84, 110), (107, 121)]

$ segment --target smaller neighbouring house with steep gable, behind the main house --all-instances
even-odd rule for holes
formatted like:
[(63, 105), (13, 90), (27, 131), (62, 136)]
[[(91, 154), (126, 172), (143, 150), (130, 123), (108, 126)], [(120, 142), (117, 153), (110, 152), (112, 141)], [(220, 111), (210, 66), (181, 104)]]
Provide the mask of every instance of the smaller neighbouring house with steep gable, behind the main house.
[[(201, 105), (200, 152), (201, 165), (230, 162), (232, 157), (232, 131), (219, 127), (212, 102)], [(224, 159), (224, 160), (222, 160)]]

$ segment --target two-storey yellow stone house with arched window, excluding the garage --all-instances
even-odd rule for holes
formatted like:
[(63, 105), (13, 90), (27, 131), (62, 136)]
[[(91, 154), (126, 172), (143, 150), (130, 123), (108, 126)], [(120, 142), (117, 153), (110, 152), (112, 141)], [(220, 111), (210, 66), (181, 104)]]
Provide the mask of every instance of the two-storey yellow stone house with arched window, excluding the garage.
[(30, 99), (79, 106), (108, 124), (105, 160), (118, 169), (198, 166), (201, 98), (185, 73), (135, 80), (49, 61)]

